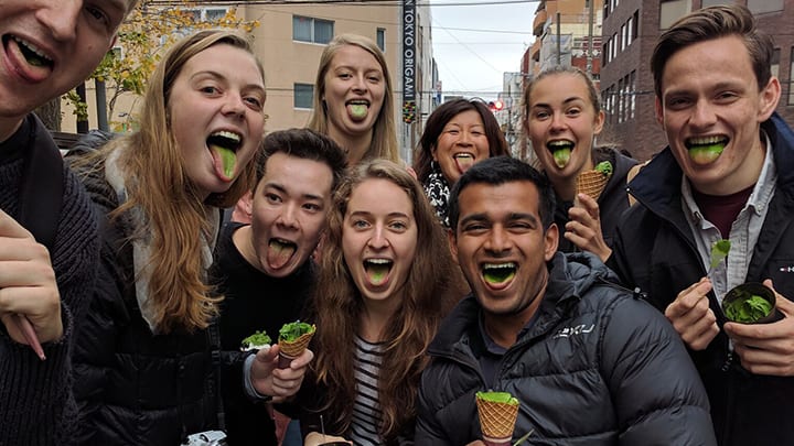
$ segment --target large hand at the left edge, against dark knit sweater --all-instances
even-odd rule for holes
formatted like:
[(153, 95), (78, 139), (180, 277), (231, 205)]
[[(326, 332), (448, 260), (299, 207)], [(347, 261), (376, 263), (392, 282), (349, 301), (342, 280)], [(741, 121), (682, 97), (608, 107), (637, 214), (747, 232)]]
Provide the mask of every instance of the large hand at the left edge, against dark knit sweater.
[(0, 320), (9, 336), (29, 344), (22, 324), (24, 316), (39, 340), (61, 339), (61, 293), (47, 249), (25, 228), (0, 210)]

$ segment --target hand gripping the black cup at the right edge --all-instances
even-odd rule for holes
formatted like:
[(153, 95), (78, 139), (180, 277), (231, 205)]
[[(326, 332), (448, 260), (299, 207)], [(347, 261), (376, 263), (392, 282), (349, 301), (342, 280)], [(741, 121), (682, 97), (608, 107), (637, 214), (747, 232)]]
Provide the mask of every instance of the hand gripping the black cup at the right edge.
[(794, 303), (774, 290), (771, 280), (764, 285), (775, 292), (775, 305), (783, 319), (772, 324), (726, 323), (726, 334), (742, 367), (755, 374), (794, 376)]

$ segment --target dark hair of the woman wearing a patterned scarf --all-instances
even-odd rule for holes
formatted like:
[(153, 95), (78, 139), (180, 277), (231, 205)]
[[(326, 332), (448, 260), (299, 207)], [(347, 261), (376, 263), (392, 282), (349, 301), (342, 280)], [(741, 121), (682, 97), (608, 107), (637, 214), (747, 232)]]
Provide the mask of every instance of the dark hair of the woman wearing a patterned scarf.
[(414, 171), (416, 171), (420, 182), (426, 182), (431, 173), (432, 151), (443, 132), (444, 126), (452, 118), (469, 110), (475, 110), (482, 118), (485, 137), (489, 140), (490, 156), (511, 155), (507, 141), (504, 139), (496, 118), (494, 118), (493, 112), (482, 99), (453, 99), (433, 110), (425, 124), (425, 131), (419, 140), (419, 145), (417, 145), (416, 161), (414, 162)]

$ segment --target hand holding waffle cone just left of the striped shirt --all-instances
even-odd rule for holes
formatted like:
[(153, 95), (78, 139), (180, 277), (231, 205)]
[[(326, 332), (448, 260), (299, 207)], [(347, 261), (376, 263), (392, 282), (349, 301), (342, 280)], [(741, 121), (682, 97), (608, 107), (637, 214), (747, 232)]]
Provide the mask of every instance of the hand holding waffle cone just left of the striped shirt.
[(254, 389), (260, 394), (272, 396), (276, 403), (298, 393), (307, 367), (314, 358), (314, 353), (305, 349), (301, 356), (290, 362), (288, 368), (279, 369), (278, 353), (278, 344), (272, 345), (269, 349), (260, 349), (257, 351), (254, 362), (251, 362), (250, 370)]

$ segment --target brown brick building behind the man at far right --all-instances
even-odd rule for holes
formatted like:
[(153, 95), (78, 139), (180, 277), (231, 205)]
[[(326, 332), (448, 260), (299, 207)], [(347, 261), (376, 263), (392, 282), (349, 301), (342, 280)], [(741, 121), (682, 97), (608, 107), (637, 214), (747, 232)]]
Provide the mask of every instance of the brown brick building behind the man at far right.
[(777, 111), (794, 122), (794, 0), (608, 0), (603, 4), (601, 95), (610, 138), (639, 160), (666, 145), (655, 117), (651, 55), (659, 34), (680, 17), (712, 4), (748, 7), (773, 36), (772, 73), (781, 80)]

